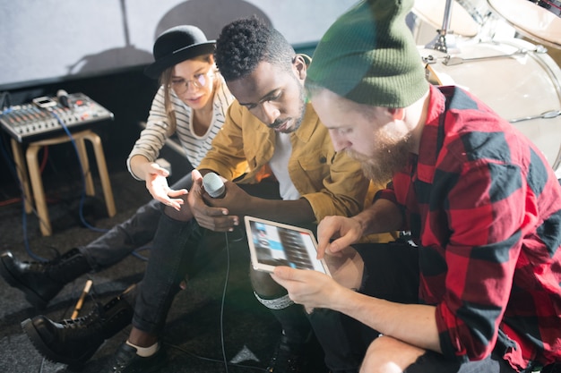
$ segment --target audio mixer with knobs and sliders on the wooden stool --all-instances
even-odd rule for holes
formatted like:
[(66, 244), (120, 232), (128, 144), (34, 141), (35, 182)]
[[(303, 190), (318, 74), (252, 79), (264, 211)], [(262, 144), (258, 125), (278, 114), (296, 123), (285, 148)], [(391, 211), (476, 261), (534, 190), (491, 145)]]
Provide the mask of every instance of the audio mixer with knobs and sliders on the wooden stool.
[[(41, 140), (56, 132), (112, 120), (113, 113), (83, 93), (65, 97), (38, 97), (30, 104), (11, 106), (0, 113), (0, 124), (19, 142)], [(65, 105), (63, 105), (65, 104)]]

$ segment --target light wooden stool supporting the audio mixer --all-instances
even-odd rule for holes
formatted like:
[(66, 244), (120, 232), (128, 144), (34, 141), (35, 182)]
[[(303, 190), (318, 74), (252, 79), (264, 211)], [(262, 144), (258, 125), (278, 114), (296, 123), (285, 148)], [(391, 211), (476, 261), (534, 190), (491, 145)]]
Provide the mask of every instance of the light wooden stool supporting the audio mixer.
[[(109, 182), (108, 167), (105, 162), (105, 155), (101, 145), (99, 136), (91, 130), (79, 131), (72, 134), (73, 140), (78, 149), (78, 156), (82, 164), (84, 180), (86, 182), (85, 190), (86, 195), (94, 196), (95, 190), (93, 187), (93, 180), (91, 179), (90, 163), (88, 161), (88, 153), (86, 151), (86, 144), (84, 140), (89, 140), (93, 147), (96, 163), (98, 164), (99, 179), (101, 180), (101, 187), (103, 188), (103, 195), (105, 197), (105, 204), (108, 208), (108, 216), (115, 216), (117, 210), (115, 208), (115, 200), (113, 199), (113, 191)], [(47, 145), (57, 145), (70, 141), (67, 135), (58, 136), (51, 139), (39, 140), (30, 142), (27, 151), (25, 152), (24, 162), (22, 144), (12, 139), (12, 150), (15, 165), (17, 166), (18, 177), (22, 182), (23, 197), (25, 199), (25, 212), (30, 214), (33, 210), (31, 203), (35, 201), (35, 208), (37, 208), (37, 215), (39, 216), (39, 226), (41, 233), (44, 236), (52, 234), (50, 220), (48, 218), (47, 201), (45, 200), (45, 191), (43, 190), (43, 182), (41, 180), (41, 173), (39, 170), (39, 161), (37, 155), (39, 149)], [(29, 179), (27, 168), (29, 168)], [(33, 195), (30, 193), (30, 182), (33, 190)]]

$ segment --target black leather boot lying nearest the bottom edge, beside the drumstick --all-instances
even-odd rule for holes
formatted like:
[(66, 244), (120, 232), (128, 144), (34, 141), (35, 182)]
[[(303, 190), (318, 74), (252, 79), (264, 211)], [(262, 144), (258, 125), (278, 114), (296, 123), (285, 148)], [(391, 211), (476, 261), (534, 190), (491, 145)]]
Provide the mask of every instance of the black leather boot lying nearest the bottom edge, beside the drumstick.
[(81, 366), (106, 339), (131, 323), (133, 313), (133, 306), (121, 294), (82, 318), (54, 322), (37, 316), (23, 321), (22, 328), (47, 360)]

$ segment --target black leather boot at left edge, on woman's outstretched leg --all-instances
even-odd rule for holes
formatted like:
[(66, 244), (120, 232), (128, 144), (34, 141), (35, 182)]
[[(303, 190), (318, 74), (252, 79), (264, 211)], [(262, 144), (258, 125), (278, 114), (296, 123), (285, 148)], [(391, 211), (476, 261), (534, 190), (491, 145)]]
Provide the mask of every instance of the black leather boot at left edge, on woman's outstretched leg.
[(25, 299), (38, 309), (44, 309), (65, 284), (91, 270), (78, 249), (46, 263), (21, 261), (6, 251), (0, 261), (0, 275), (8, 284), (24, 292)]

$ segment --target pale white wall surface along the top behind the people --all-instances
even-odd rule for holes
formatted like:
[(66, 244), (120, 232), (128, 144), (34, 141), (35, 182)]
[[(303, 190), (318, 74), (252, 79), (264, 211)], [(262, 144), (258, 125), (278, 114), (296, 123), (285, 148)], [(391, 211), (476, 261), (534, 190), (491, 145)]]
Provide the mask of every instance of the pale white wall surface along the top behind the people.
[(357, 0), (0, 0), (0, 90), (151, 62), (162, 30), (209, 38), (257, 13), (293, 45), (316, 42)]

